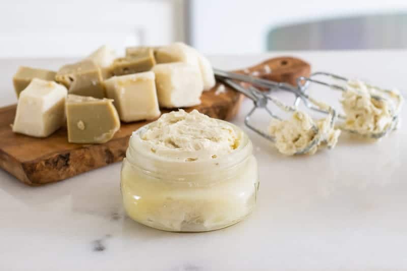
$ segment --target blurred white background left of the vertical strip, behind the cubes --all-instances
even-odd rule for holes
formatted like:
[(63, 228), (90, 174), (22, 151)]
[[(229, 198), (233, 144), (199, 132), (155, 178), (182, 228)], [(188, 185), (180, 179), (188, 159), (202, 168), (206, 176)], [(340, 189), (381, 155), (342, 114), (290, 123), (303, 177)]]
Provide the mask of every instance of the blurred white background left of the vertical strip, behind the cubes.
[[(0, 4), (0, 56), (79, 57), (102, 44), (185, 40), (183, 1), (14, 0)], [(181, 14), (181, 15), (180, 15)]]

